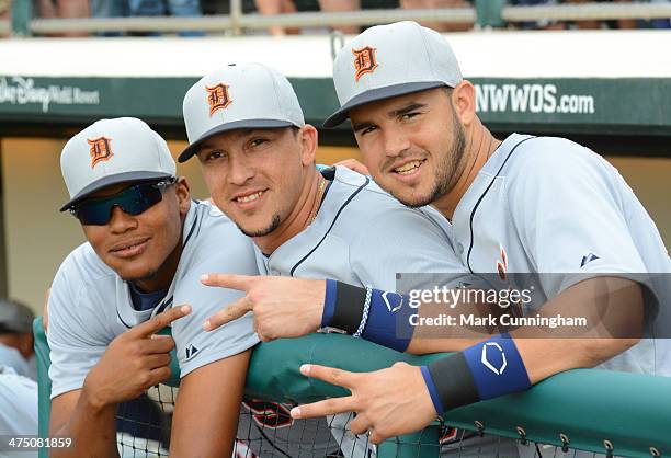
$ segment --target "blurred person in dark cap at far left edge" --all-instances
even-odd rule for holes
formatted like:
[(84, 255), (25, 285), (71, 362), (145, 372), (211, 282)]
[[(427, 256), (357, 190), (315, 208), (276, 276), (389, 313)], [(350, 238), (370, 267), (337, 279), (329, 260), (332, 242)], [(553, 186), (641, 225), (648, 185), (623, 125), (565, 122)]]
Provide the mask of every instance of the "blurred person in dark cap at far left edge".
[(33, 311), (15, 300), (0, 299), (0, 366), (37, 380)]

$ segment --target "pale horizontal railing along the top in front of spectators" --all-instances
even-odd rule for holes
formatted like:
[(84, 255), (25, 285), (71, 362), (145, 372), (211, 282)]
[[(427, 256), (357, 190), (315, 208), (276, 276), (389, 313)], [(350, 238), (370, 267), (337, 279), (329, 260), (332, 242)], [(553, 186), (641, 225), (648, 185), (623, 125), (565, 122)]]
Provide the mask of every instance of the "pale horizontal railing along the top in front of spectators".
[(0, 33), (11, 28), (15, 36), (65, 32), (179, 32), (204, 31), (240, 35), (244, 30), (315, 27), (338, 25), (375, 25), (395, 21), (432, 21), (440, 23), (477, 24), (479, 27), (502, 27), (526, 21), (573, 21), (617, 19), (668, 19), (671, 3), (583, 3), (520, 7), (504, 0), (475, 0), (474, 8), (444, 9), (374, 9), (351, 12), (300, 12), (262, 15), (244, 13), (242, 0), (230, 0), (229, 14), (201, 18), (34, 18), (32, 0), (13, 0), (11, 27), (0, 21)]

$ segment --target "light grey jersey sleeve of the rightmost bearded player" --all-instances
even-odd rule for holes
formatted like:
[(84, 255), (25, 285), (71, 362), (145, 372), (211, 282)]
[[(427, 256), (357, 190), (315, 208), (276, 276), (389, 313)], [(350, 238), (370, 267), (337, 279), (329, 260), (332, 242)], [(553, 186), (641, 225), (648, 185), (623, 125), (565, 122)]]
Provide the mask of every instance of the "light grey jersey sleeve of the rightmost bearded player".
[(626, 184), (616, 170), (568, 140), (524, 148), (536, 149), (526, 151), (524, 170), (511, 180), (508, 205), (548, 297), (598, 274), (640, 280), (645, 264), (627, 227)]

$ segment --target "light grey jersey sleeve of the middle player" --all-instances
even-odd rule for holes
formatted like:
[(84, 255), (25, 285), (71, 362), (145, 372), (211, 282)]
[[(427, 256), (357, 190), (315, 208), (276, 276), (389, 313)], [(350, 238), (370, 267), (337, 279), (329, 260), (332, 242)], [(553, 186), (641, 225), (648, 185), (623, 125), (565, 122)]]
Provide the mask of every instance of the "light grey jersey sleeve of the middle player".
[(362, 229), (350, 249), (350, 265), (362, 284), (384, 290), (396, 291), (397, 274), (423, 274), (405, 276), (403, 289), (436, 282), (448, 288), (480, 282), (460, 263), (435, 222), (420, 211), (402, 207), (380, 213)]

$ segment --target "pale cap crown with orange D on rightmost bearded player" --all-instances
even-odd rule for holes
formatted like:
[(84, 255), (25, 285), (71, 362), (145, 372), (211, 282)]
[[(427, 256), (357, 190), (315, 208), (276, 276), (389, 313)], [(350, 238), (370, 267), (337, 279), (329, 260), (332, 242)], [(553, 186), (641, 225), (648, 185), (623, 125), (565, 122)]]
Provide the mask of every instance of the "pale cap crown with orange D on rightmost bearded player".
[(342, 105), (372, 89), (408, 82), (454, 84), (460, 76), (439, 33), (400, 22), (371, 27), (349, 43), (338, 55), (333, 79)]

